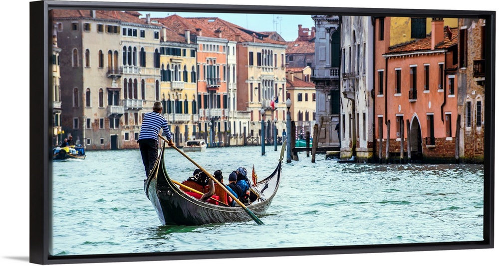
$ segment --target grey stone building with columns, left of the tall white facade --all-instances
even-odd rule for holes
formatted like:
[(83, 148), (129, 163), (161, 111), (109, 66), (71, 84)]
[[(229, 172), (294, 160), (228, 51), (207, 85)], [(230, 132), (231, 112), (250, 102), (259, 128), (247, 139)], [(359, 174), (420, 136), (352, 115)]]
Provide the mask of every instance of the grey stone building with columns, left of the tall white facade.
[(312, 15), (315, 21), (316, 89), (315, 121), (319, 123), (319, 146), (339, 146), (334, 127), (339, 122), (340, 21), (337, 15)]

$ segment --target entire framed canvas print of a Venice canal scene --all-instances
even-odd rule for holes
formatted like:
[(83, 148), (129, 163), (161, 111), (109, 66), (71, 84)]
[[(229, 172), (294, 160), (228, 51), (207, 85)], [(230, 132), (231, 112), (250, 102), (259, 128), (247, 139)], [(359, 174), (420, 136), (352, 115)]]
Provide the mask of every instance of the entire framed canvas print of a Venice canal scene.
[(494, 248), (491, 9), (29, 2), (29, 262)]

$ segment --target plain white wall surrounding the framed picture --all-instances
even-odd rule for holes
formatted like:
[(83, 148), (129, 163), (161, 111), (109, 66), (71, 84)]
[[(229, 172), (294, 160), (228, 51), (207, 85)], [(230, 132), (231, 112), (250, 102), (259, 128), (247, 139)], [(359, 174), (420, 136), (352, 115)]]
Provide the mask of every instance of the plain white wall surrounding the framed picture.
[[(121, 0), (129, 2), (130, 0)], [(133, 0), (132, 0), (133, 1)], [(134, 0), (135, 2), (167, 2), (165, 0)], [(171, 2), (206, 3), (204, 0), (172, 0)], [(211, 0), (214, 4), (234, 4), (229, 0)], [(265, 5), (267, 0), (252, 0), (250, 4)], [(274, 5), (305, 5), (307, 2), (298, 0), (274, 0)], [(434, 1), (418, 0), (414, 2), (385, 1), (316, 1), (316, 6), (335, 7), (370, 7), (370, 8), (434, 8), (434, 9), (476, 9), (498, 10), (497, 1), (468, 0)], [(1, 218), (0, 218), (0, 264), (5, 266), (29, 265), (29, 169), (26, 158), (10, 157), (13, 150), (28, 149), (29, 143), (29, 1), (6, 1), (3, 4), (1, 17), (1, 32), (3, 35), (1, 51), (2, 64), (2, 130), (0, 130), (1, 147)], [(498, 26), (498, 25), (496, 25)], [(497, 58), (496, 58), (497, 62)], [(497, 75), (497, 73), (496, 73)], [(497, 101), (497, 98), (496, 98)], [(496, 116), (497, 116), (496, 112)], [(497, 130), (497, 129), (496, 129)], [(495, 134), (498, 139), (498, 133)], [(496, 144), (497, 147), (498, 144)], [(496, 197), (497, 198), (497, 197)], [(15, 204), (14, 204), (15, 202)], [(496, 218), (497, 220), (497, 218)], [(497, 224), (497, 223), (496, 223)], [(184, 265), (382, 265), (382, 266), (434, 266), (434, 265), (494, 265), (499, 253), (497, 249), (459, 250), (438, 252), (405, 252), (379, 254), (322, 255), (300, 257), (274, 257), (250, 259), (220, 259), (211, 261), (168, 261), (168, 262), (135, 262), (86, 264), (102, 266), (184, 266)]]

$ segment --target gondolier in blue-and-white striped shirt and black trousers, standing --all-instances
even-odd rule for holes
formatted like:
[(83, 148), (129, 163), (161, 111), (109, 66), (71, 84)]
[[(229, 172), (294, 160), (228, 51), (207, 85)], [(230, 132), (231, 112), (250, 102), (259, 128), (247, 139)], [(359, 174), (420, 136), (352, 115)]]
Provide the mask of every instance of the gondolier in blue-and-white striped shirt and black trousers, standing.
[(170, 126), (168, 121), (161, 114), (163, 111), (163, 104), (160, 101), (155, 101), (153, 111), (144, 114), (142, 125), (140, 127), (139, 143), (140, 154), (142, 156), (142, 163), (146, 171), (146, 178), (149, 171), (154, 168), (154, 163), (158, 159), (158, 133), (163, 128), (163, 135), (168, 140), (169, 146), (174, 146), (172, 134), (170, 133)]

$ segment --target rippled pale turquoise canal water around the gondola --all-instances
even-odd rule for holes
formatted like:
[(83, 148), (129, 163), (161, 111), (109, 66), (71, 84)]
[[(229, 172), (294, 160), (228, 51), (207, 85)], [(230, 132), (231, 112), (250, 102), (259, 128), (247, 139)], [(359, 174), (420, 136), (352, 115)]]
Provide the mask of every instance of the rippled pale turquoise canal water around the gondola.
[[(279, 147), (280, 149), (280, 147)], [(258, 179), (279, 151), (260, 146), (187, 153), (210, 172), (244, 166)], [(195, 166), (165, 152), (169, 175)], [(285, 159), (284, 159), (285, 161)], [(85, 160), (53, 163), (52, 255), (240, 250), (483, 240), (484, 165), (315, 163), (305, 153), (284, 163), (264, 225), (252, 220), (161, 226), (143, 190), (139, 150), (87, 151)]]

